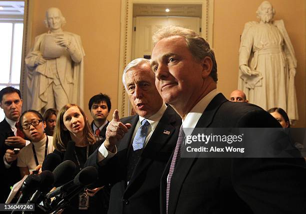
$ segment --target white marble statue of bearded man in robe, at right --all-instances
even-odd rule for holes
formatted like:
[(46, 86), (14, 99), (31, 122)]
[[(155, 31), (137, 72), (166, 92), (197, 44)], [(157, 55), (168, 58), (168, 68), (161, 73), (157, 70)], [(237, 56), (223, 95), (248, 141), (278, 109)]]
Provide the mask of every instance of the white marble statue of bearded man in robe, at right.
[(263, 1), (256, 11), (259, 22), (244, 26), (239, 49), (238, 89), (249, 103), (267, 110), (284, 109), (298, 120), (294, 76), (296, 58), (283, 20), (272, 21), (275, 10)]

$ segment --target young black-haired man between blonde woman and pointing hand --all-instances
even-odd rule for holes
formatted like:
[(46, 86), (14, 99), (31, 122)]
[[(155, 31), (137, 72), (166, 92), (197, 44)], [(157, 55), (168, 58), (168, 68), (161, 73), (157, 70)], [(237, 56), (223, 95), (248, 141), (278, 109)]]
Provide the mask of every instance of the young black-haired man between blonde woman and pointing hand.
[(106, 127), (109, 123), (107, 116), (110, 112), (110, 98), (106, 94), (99, 93), (90, 98), (88, 108), (93, 118), (90, 124), (95, 136), (99, 136), (100, 141), (105, 140)]

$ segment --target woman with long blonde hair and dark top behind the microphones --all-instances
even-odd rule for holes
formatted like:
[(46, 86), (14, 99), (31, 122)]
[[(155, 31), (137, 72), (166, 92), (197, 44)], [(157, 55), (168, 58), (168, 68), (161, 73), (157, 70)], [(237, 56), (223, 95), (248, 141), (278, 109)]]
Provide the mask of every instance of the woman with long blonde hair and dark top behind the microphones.
[[(101, 143), (100, 141), (96, 141), (96, 138), (91, 132), (87, 117), (79, 106), (75, 104), (66, 104), (60, 109), (56, 118), (53, 135), (54, 153), (59, 155), (62, 161), (73, 161), (77, 169), (75, 173), (78, 173), (84, 167), (88, 156), (90, 156)], [(64, 212), (91, 214), (99, 212), (103, 214), (103, 208), (100, 207), (102, 205), (100, 193), (103, 193), (103, 191), (99, 191), (100, 189), (101, 188), (85, 190), (79, 196), (72, 199), (70, 206), (66, 208)], [(99, 193), (96, 194), (97, 192)], [(88, 196), (90, 196), (90, 199)], [(81, 201), (78, 200), (84, 197), (86, 200), (89, 200), (89, 207), (80, 206)]]

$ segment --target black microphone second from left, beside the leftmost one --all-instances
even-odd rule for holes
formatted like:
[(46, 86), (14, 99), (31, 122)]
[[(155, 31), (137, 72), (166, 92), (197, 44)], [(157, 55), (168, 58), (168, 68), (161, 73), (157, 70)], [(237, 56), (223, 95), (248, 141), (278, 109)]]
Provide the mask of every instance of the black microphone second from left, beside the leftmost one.
[(40, 183), (36, 192), (32, 195), (27, 204), (39, 204), (44, 196), (52, 189), (54, 183), (53, 173), (49, 170), (42, 171), (39, 175)]

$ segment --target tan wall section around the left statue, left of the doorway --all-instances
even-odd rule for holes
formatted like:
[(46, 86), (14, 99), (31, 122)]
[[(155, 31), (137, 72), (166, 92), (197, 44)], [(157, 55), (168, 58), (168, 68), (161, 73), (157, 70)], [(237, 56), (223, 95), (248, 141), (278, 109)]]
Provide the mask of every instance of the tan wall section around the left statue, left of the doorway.
[[(58, 7), (66, 18), (65, 31), (80, 35), (84, 57), (84, 110), (91, 121), (88, 101), (102, 92), (117, 106), (120, 43), (120, 0), (33, 0), (32, 44), (45, 32), (43, 20), (49, 7)], [(111, 115), (110, 115), (111, 116)], [(111, 117), (109, 117), (110, 119)]]

